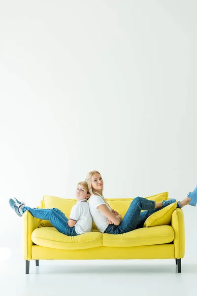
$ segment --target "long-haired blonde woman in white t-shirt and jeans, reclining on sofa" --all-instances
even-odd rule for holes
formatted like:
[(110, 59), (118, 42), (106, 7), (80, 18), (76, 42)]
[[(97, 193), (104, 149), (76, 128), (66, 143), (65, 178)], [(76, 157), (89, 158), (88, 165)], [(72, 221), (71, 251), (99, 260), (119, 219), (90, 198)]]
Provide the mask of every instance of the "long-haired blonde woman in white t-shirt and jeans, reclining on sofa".
[[(97, 228), (102, 233), (121, 234), (141, 228), (150, 215), (163, 209), (169, 204), (176, 202), (175, 199), (169, 199), (156, 203), (154, 200), (136, 197), (131, 202), (123, 219), (118, 212), (110, 208), (109, 204), (103, 197), (103, 180), (100, 173), (98, 171), (89, 172), (86, 176), (86, 182), (91, 194), (89, 198), (90, 213)], [(188, 204), (196, 206), (197, 187), (193, 192), (188, 194), (188, 197), (177, 202), (177, 208), (182, 208)], [(141, 213), (141, 210), (146, 211)]]

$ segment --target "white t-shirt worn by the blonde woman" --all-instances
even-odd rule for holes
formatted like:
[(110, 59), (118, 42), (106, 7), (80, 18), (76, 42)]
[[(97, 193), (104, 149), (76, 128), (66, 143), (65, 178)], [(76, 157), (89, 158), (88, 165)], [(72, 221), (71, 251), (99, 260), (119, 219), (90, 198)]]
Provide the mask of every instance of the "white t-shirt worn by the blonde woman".
[(92, 215), (92, 218), (97, 225), (97, 228), (100, 232), (104, 232), (107, 228), (107, 218), (97, 209), (100, 205), (106, 205), (108, 209), (111, 211), (109, 205), (100, 197), (99, 195), (91, 195), (89, 198), (89, 209)]

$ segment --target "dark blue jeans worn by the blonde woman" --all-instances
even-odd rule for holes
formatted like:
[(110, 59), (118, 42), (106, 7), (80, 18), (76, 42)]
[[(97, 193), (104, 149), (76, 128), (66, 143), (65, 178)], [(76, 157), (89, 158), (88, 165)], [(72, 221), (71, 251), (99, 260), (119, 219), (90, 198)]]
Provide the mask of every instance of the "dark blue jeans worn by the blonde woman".
[[(176, 199), (168, 199), (162, 208), (155, 209), (156, 201), (148, 200), (143, 197), (135, 197), (125, 214), (123, 221), (119, 225), (109, 224), (105, 229), (105, 233), (121, 234), (131, 230), (142, 228), (146, 219), (153, 213), (164, 209), (164, 207), (175, 202)], [(177, 202), (177, 208), (182, 208), (180, 202)], [(147, 210), (141, 213), (141, 210)]]

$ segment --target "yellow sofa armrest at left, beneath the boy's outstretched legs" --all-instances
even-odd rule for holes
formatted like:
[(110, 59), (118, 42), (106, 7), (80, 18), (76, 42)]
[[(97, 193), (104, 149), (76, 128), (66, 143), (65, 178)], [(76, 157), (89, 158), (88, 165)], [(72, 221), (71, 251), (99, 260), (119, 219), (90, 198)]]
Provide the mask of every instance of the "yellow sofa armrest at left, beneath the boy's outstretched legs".
[(23, 258), (25, 260), (32, 259), (32, 232), (38, 228), (41, 219), (34, 218), (30, 212), (23, 214)]

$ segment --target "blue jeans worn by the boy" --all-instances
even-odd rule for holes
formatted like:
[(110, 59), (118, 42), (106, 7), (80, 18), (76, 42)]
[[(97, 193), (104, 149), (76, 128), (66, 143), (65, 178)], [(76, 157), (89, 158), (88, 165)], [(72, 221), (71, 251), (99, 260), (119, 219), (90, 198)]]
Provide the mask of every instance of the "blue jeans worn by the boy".
[(74, 226), (73, 227), (68, 226), (67, 217), (59, 209), (56, 209), (56, 208), (37, 209), (37, 208), (30, 208), (30, 207), (21, 208), (22, 214), (24, 214), (26, 211), (30, 212), (32, 216), (35, 218), (42, 219), (42, 220), (49, 220), (50, 223), (61, 233), (64, 233), (68, 236), (78, 235), (75, 231)]

